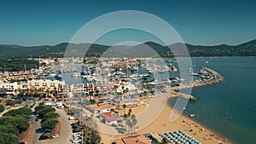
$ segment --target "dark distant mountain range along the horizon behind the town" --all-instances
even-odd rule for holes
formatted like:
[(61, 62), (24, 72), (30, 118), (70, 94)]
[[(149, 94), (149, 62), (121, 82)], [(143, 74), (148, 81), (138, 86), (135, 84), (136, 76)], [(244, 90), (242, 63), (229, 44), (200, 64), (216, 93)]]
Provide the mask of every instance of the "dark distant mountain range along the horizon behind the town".
[[(59, 43), (56, 45), (41, 45), (24, 47), (20, 45), (7, 45), (0, 44), (0, 57), (63, 57), (67, 46), (74, 48), (70, 51), (70, 55), (84, 54), (84, 50), (87, 50), (85, 56), (102, 56), (102, 55), (115, 55), (115, 56), (156, 56), (161, 57), (173, 56), (173, 53), (177, 55), (178, 49), (186, 46), (189, 55), (192, 57), (207, 57), (207, 56), (256, 56), (256, 39), (247, 43), (241, 43), (239, 45), (215, 45), (215, 46), (203, 46), (192, 45), (189, 43), (174, 43), (169, 45), (172, 48), (163, 46), (159, 43), (146, 42), (135, 46), (108, 46), (102, 44), (90, 44), (90, 43)], [(150, 48), (150, 49), (148, 49)], [(182, 56), (181, 54), (179, 54)]]

